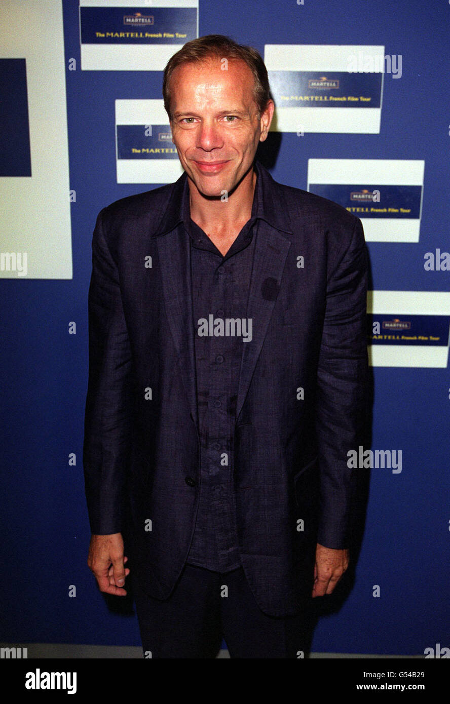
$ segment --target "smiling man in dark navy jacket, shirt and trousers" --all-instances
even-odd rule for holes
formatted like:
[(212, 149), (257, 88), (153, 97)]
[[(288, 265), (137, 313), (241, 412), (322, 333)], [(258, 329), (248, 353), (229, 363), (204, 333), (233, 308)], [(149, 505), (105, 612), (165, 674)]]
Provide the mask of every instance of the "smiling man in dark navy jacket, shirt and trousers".
[(257, 51), (188, 42), (163, 95), (185, 173), (101, 210), (92, 241), (88, 564), (117, 596), (130, 574), (146, 657), (213, 658), (224, 635), (231, 657), (299, 658), (349, 563), (363, 229), (255, 160)]

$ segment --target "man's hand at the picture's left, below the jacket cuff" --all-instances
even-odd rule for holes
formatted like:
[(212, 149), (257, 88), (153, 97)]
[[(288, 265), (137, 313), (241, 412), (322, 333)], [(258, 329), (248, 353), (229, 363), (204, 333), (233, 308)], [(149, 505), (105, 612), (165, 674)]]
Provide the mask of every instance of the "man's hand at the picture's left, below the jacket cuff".
[(128, 558), (123, 556), (123, 538), (121, 533), (111, 535), (92, 535), (89, 544), (87, 564), (94, 572), (100, 591), (115, 596), (125, 596), (125, 577), (130, 574), (124, 565)]

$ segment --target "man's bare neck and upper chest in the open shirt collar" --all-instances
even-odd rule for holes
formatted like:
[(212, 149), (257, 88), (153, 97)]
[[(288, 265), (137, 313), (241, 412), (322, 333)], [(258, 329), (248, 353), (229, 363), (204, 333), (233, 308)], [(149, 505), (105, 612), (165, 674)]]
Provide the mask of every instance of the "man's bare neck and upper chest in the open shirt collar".
[(242, 230), (251, 218), (256, 187), (256, 172), (252, 167), (227, 200), (205, 198), (189, 179), (189, 206), (191, 218), (209, 237), (230, 237)]

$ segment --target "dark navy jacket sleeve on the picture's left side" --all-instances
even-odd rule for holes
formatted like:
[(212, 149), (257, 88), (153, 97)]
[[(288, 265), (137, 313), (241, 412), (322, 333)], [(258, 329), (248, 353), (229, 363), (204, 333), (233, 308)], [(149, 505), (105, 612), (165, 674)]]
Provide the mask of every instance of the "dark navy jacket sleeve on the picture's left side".
[(104, 230), (105, 209), (92, 237), (89, 285), (89, 379), (83, 468), (92, 534), (118, 533), (132, 413), (131, 352), (118, 268)]

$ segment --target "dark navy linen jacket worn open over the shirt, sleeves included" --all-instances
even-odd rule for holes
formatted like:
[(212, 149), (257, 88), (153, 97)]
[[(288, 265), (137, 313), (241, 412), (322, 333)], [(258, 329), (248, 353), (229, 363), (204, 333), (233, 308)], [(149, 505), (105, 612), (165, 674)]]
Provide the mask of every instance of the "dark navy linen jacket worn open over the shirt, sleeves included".
[[(299, 612), (316, 542), (349, 545), (368, 379), (368, 256), (361, 220), (273, 180), (242, 344), (234, 443), (239, 553), (260, 608)], [(167, 598), (187, 560), (199, 496), (189, 238), (177, 182), (98, 215), (89, 287), (83, 465), (93, 534), (126, 529), (130, 565)]]

